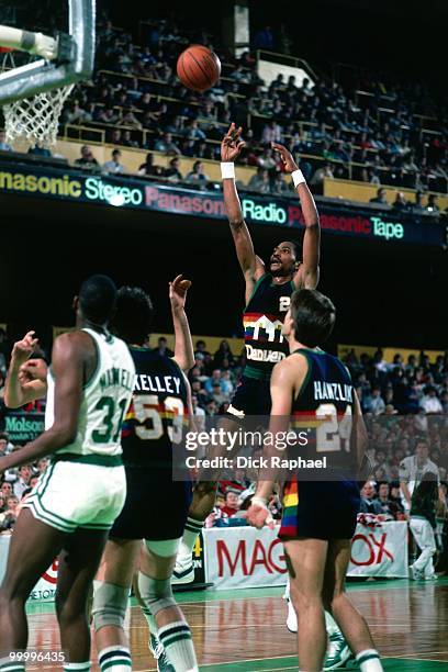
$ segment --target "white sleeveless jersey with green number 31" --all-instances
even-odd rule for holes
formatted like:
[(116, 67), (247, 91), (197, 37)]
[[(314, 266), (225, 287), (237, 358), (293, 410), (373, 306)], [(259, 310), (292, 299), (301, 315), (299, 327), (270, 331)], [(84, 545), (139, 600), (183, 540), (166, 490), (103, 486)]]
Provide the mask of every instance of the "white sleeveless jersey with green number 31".
[[(121, 426), (134, 390), (135, 367), (126, 344), (114, 336), (82, 329), (97, 345), (97, 370), (87, 383), (79, 408), (77, 437), (56, 455), (121, 455)], [(45, 428), (54, 423), (55, 380), (47, 376)]]

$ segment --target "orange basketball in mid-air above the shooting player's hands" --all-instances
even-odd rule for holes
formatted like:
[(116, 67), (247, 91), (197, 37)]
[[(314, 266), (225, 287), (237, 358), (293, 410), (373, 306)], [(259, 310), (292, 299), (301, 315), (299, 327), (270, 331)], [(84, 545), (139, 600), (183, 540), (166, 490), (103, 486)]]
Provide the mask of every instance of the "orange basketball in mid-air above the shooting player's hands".
[(179, 56), (177, 74), (187, 89), (206, 91), (220, 79), (221, 61), (208, 47), (193, 44)]

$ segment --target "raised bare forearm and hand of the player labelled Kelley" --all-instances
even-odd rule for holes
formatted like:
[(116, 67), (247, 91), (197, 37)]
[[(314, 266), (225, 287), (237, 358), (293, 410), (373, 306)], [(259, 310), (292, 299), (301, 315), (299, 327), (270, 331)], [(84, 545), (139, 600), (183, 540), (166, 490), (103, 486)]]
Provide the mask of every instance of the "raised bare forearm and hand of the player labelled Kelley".
[(194, 365), (193, 340), (186, 313), (187, 292), (191, 287), (190, 280), (177, 276), (169, 283), (169, 300), (171, 302), (172, 325), (175, 327), (175, 357), (182, 369), (190, 371)]

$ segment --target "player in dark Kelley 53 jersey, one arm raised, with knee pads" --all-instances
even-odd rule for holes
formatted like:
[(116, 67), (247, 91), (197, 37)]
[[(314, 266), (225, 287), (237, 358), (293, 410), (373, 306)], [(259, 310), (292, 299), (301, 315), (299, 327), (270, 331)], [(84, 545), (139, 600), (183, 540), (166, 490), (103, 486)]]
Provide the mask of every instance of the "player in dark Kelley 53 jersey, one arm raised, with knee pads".
[[(171, 591), (171, 572), (191, 503), (191, 482), (173, 481), (172, 447), (192, 414), (188, 371), (194, 363), (184, 313), (189, 280), (170, 283), (175, 357), (146, 343), (153, 306), (139, 288), (121, 288), (114, 331), (128, 344), (136, 368), (132, 404), (122, 433), (127, 496), (115, 520), (94, 582), (93, 626), (102, 671), (131, 670), (124, 619), (133, 576), (152, 631), (158, 670), (198, 670), (190, 628)], [(154, 511), (164, 504), (164, 515)], [(142, 540), (144, 544), (142, 545)], [(157, 634), (157, 638), (155, 635)]]

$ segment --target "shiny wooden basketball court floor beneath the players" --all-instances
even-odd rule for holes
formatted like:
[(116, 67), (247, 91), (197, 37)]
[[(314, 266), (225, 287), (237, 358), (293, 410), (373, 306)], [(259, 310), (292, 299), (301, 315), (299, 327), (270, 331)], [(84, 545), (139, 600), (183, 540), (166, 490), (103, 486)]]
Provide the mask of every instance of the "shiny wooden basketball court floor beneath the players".
[[(448, 578), (433, 582), (367, 581), (348, 585), (366, 616), (385, 670), (448, 670)], [(295, 637), (288, 632), (281, 589), (178, 593), (191, 626), (201, 670), (257, 672), (296, 670)], [(59, 649), (53, 605), (29, 609), (30, 648)], [(156, 670), (147, 648), (146, 621), (133, 604), (127, 618), (133, 670)], [(96, 660), (93, 650), (92, 660)], [(29, 670), (37, 669), (29, 665)], [(55, 665), (38, 669), (56, 670)], [(347, 670), (358, 669), (349, 663)], [(97, 664), (92, 671), (98, 672)]]

